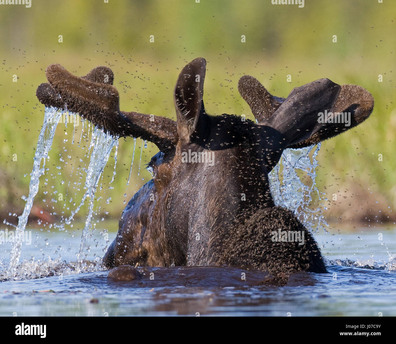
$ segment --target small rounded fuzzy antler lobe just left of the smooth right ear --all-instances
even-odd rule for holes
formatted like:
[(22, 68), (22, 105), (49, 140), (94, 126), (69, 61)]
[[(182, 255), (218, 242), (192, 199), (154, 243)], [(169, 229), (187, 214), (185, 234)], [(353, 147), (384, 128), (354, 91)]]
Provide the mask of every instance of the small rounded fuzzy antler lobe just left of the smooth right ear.
[(268, 120), (285, 100), (271, 95), (259, 80), (250, 75), (239, 79), (238, 91), (259, 123)]

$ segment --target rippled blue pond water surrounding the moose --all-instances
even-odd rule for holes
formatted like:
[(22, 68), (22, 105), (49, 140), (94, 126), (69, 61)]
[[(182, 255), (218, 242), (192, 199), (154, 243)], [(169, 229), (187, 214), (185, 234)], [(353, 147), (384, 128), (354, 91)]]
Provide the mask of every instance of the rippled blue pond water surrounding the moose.
[[(110, 242), (115, 235), (109, 233)], [(396, 228), (315, 237), (329, 274), (299, 273), (285, 287), (268, 287), (257, 286), (264, 272), (237, 267), (147, 268), (141, 279), (113, 282), (101, 271), (100, 238), (76, 274), (81, 231), (32, 230), (31, 245), (22, 245), (19, 280), (0, 283), (0, 315), (396, 315), (396, 271), (384, 268), (396, 253)], [(2, 272), (10, 249), (0, 245)]]

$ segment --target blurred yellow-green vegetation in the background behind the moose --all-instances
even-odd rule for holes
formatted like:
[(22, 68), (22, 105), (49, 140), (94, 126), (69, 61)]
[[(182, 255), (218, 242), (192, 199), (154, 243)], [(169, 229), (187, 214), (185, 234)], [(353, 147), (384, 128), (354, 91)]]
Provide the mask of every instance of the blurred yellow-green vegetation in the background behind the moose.
[[(44, 115), (35, 91), (46, 82), (44, 70), (49, 64), (60, 63), (77, 75), (107, 65), (114, 71), (122, 110), (175, 118), (175, 81), (180, 69), (198, 56), (208, 61), (204, 101), (211, 114), (253, 118), (237, 90), (244, 74), (255, 76), (271, 93), (283, 97), (293, 87), (319, 78), (369, 90), (375, 98), (371, 118), (322, 144), (318, 186), (330, 195), (370, 190), (373, 202), (380, 195), (381, 206), (394, 209), (395, 13), (396, 2), (376, 0), (307, 0), (304, 8), (272, 5), (270, 0), (32, 0), (31, 8), (0, 5), (1, 214), (20, 214), (21, 196), (29, 192), (29, 173)], [(59, 35), (63, 36), (61, 43)], [(154, 43), (149, 42), (150, 35), (154, 35)], [(246, 43), (241, 42), (242, 35)], [(336, 43), (333, 35), (337, 35)], [(17, 82), (13, 82), (14, 74)], [(286, 81), (288, 74), (291, 83)], [(379, 74), (383, 82), (378, 82)], [(65, 211), (64, 203), (51, 203), (53, 192), (74, 195), (68, 183), (60, 181), (70, 180), (73, 166), (77, 169), (80, 163), (64, 152), (65, 131), (70, 144), (70, 127), (59, 124), (48, 163), (48, 185), (40, 185), (35, 201), (38, 207), (58, 214)], [(140, 146), (137, 139), (127, 187), (133, 139), (120, 139), (113, 188), (108, 189), (114, 166), (110, 159), (97, 195), (102, 198), (101, 216), (107, 211), (118, 220), (124, 201), (150, 179), (144, 169), (137, 176)], [(143, 150), (142, 167), (156, 152), (149, 143)], [(12, 161), (13, 154), (17, 161)], [(56, 169), (59, 154), (63, 158), (71, 155), (69, 165), (61, 171)], [(378, 154), (383, 155), (382, 162)], [(45, 196), (45, 191), (52, 196)], [(86, 208), (79, 214), (84, 217)]]

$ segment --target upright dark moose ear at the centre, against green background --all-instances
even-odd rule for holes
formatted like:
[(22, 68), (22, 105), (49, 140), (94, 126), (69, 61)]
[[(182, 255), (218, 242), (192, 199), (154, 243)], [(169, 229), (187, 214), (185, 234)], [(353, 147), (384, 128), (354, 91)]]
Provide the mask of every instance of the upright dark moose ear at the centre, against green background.
[(177, 79), (174, 100), (179, 138), (188, 141), (194, 132), (199, 115), (205, 111), (202, 101), (206, 60), (198, 57), (188, 63)]

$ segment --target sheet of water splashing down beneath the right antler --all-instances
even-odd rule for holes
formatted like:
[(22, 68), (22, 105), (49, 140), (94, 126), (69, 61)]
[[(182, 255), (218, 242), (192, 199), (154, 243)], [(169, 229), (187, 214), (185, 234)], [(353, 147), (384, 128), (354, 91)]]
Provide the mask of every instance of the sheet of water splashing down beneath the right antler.
[[(293, 211), (312, 232), (318, 232), (320, 228), (326, 232), (328, 226), (322, 215), (326, 199), (316, 186), (316, 156), (319, 150), (320, 143), (317, 146), (286, 149), (278, 164), (268, 174), (275, 204)], [(300, 178), (297, 173), (303, 173), (305, 178)], [(318, 197), (318, 206), (312, 208), (311, 201), (315, 196)]]

